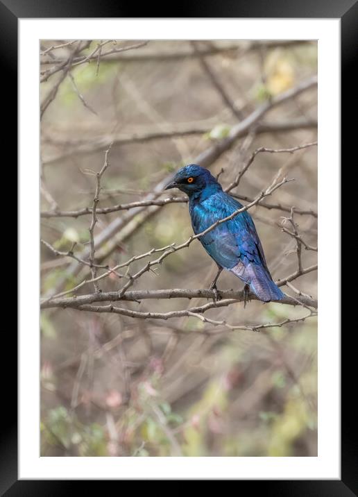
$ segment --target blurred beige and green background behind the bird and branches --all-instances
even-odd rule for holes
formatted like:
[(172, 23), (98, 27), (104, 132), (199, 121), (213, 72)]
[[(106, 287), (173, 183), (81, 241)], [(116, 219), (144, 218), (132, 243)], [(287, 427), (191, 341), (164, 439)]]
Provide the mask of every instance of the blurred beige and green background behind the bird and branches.
[[(41, 50), (65, 42), (43, 40)], [(103, 52), (128, 44), (133, 42), (118, 40)], [(222, 140), (240, 118), (316, 74), (316, 42), (265, 47), (265, 42), (231, 40), (199, 42), (197, 47), (234, 44), (236, 50), (219, 51), (205, 60), (235, 102), (239, 118), (224, 103), (198, 57), (192, 56), (190, 42), (148, 42), (101, 59), (98, 74), (96, 60), (74, 66), (71, 74), (78, 91), (67, 76), (42, 117), (41, 209), (51, 210), (56, 204), (61, 210), (91, 207), (96, 180), (86, 170), (101, 169), (112, 141), (99, 207), (141, 200), (171, 171)], [(189, 55), (169, 56), (183, 52)], [(166, 56), (160, 58), (160, 54)], [(69, 47), (53, 55), (67, 58)], [(42, 99), (58, 77), (59, 73), (54, 74), (42, 83)], [(316, 103), (317, 92), (312, 88), (273, 108), (259, 122), (312, 123)], [(152, 136), (171, 131), (185, 133)], [(134, 136), (143, 140), (130, 142)], [(126, 137), (129, 142), (123, 143)], [(314, 140), (313, 124), (246, 135), (210, 170), (215, 175), (223, 169), (220, 181), (227, 186), (259, 146), (283, 149)], [(259, 153), (234, 192), (254, 199), (284, 166), (287, 177), (295, 181), (280, 187), (266, 202), (316, 211), (316, 153), (315, 146), (292, 154)], [(160, 198), (180, 195), (170, 190)], [(128, 212), (99, 214), (96, 234)], [(296, 271), (296, 242), (277, 226), (289, 213), (256, 206), (250, 214), (273, 279)], [(316, 217), (296, 214), (295, 219), (302, 238), (316, 245)], [(75, 253), (79, 254), (88, 246), (90, 221), (90, 215), (42, 218), (41, 237), (59, 251), (68, 251), (77, 242)], [(153, 247), (185, 242), (191, 233), (187, 203), (147, 208), (117, 233), (115, 249), (103, 263), (113, 267)], [(67, 278), (73, 262), (41, 247), (43, 295), (69, 289), (79, 283), (78, 278), (89, 277), (88, 271), (82, 271)], [(316, 253), (303, 249), (302, 262), (304, 267), (315, 264)], [(133, 267), (138, 270), (143, 263), (135, 262)], [(144, 273), (133, 289), (208, 288), (215, 273), (216, 265), (195, 241)], [(58, 289), (61, 279), (64, 284)], [(111, 276), (100, 284), (108, 292), (119, 289), (123, 280)], [(293, 285), (316, 297), (316, 271), (300, 276)], [(221, 274), (219, 289), (242, 287), (235, 276)], [(282, 289), (295, 295), (286, 286)], [(78, 294), (92, 292), (92, 284), (78, 290)], [(203, 303), (203, 299), (144, 300), (121, 306), (169, 312)], [(232, 324), (256, 324), (305, 313), (300, 306), (252, 301), (245, 309), (237, 303), (205, 315)], [(225, 330), (194, 317), (160, 321), (49, 309), (41, 316), (41, 358), (43, 456), (317, 455), (315, 317), (252, 332)]]

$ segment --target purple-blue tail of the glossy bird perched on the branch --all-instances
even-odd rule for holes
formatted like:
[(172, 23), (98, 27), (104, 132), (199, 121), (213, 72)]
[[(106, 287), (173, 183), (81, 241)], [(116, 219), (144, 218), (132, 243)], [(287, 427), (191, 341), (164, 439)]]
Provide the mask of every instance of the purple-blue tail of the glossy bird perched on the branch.
[(250, 290), (257, 295), (260, 301), (280, 301), (284, 298), (284, 293), (272, 280), (266, 269), (259, 264), (237, 264), (231, 269), (236, 276), (250, 286)]

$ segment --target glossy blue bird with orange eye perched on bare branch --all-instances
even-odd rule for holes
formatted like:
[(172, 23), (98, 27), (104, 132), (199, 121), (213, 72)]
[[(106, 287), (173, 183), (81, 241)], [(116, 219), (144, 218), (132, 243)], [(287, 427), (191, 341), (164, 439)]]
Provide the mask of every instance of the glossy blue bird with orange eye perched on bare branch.
[[(189, 213), (195, 234), (244, 207), (223, 192), (208, 169), (196, 164), (179, 169), (165, 189), (169, 188), (178, 188), (189, 196)], [(221, 271), (228, 269), (244, 281), (245, 295), (250, 288), (263, 302), (279, 301), (284, 297), (271, 278), (255, 224), (247, 210), (219, 224), (199, 239), (219, 269), (211, 286), (214, 292)]]

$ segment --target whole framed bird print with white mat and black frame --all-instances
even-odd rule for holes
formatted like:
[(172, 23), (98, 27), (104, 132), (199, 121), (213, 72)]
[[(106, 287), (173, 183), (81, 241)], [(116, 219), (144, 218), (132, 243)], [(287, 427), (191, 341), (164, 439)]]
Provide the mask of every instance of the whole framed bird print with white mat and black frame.
[(82, 8), (1, 5), (7, 74), (19, 62), (1, 490), (357, 493), (339, 264), (357, 4)]

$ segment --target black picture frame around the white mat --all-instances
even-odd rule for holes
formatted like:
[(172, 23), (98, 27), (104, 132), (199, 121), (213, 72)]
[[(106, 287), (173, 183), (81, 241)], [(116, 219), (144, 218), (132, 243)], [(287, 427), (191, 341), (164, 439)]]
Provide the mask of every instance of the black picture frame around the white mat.
[[(158, 3), (157, 6), (160, 4)], [(339, 1), (308, 1), (300, 0), (290, 2), (284, 0), (265, 1), (251, 0), (250, 2), (229, 2), (197, 0), (190, 6), (180, 4), (170, 15), (162, 12), (153, 3), (146, 3), (140, 7), (140, 17), (282, 17), (282, 18), (339, 18), (341, 19), (341, 163), (348, 164), (348, 154), (354, 149), (355, 135), (357, 133), (354, 121), (348, 120), (349, 116), (356, 116), (357, 90), (353, 69), (357, 53), (358, 31), (358, 2), (357, 0)], [(0, 51), (3, 62), (3, 73), (6, 74), (5, 99), (10, 100), (11, 112), (6, 116), (6, 148), (11, 150), (12, 162), (17, 150), (17, 22), (19, 18), (50, 18), (50, 17), (137, 17), (133, 16), (138, 6), (119, 6), (110, 0), (0, 0)], [(185, 16), (183, 15), (185, 13)], [(322, 83), (324, 84), (324, 82)], [(346, 119), (344, 119), (346, 117)], [(322, 145), (324, 146), (324, 144)], [(354, 157), (354, 154), (353, 154)], [(350, 158), (354, 168), (357, 160)], [(11, 166), (15, 171), (15, 167)], [(342, 169), (343, 172), (343, 169)], [(342, 178), (343, 180), (343, 178)], [(355, 187), (350, 182), (350, 188)], [(348, 208), (349, 199), (354, 199), (353, 190), (348, 190), (348, 185), (342, 181), (341, 199), (332, 199), (332, 208), (339, 208), (341, 212), (352, 212)], [(341, 202), (340, 202), (341, 201)], [(345, 228), (348, 214), (342, 217), (342, 235), (349, 236), (349, 229)], [(347, 223), (348, 224), (348, 223)], [(348, 241), (342, 246), (351, 246)], [(327, 248), (329, 250), (329, 248)], [(347, 257), (349, 257), (347, 255)], [(351, 257), (355, 257), (351, 253)], [(346, 269), (344, 271), (344, 263)], [(351, 260), (341, 257), (341, 274), (352, 275), (352, 267), (348, 268)], [(354, 276), (352, 276), (354, 277)], [(348, 278), (348, 276), (347, 276)], [(343, 285), (343, 283), (342, 283)], [(354, 295), (355, 292), (352, 292)], [(347, 295), (346, 295), (347, 294)], [(351, 292), (345, 292), (341, 299), (341, 316), (349, 315), (354, 309), (350, 300)], [(346, 313), (343, 312), (344, 306)], [(6, 496), (56, 496), (71, 493), (74, 487), (78, 491), (76, 482), (68, 480), (18, 480), (17, 479), (17, 337), (15, 330), (10, 326), (3, 335), (3, 355), (6, 350), (8, 361), (1, 361), (5, 366), (2, 375), (2, 385), (6, 389), (3, 398), (6, 398), (2, 414), (4, 416), (1, 430), (1, 455), (0, 455), (0, 494)], [(343, 329), (343, 326), (342, 326)], [(323, 497), (348, 497), (358, 495), (358, 442), (357, 442), (357, 410), (353, 407), (352, 398), (357, 387), (355, 379), (355, 348), (350, 343), (355, 335), (354, 326), (346, 326), (341, 338), (341, 480), (239, 480), (239, 491), (243, 485), (250, 485), (250, 491), (263, 491), (264, 495), (274, 496), (323, 496)], [(9, 366), (10, 364), (10, 366)], [(10, 368), (10, 369), (9, 369)], [(11, 372), (9, 372), (11, 371)], [(75, 485), (73, 485), (75, 483)], [(91, 482), (95, 485), (95, 482)]]

